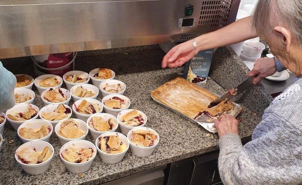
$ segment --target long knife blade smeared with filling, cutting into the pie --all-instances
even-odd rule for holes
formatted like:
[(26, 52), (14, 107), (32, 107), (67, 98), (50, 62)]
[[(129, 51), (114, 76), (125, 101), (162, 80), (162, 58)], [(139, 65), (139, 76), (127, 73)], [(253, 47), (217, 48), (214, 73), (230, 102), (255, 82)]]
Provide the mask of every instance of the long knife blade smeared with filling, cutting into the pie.
[(226, 94), (224, 94), (221, 97), (217, 98), (216, 100), (212, 101), (210, 103), (210, 105), (208, 106), (208, 108), (214, 107), (214, 106), (218, 105), (222, 101), (229, 101), (229, 100), (233, 99), (234, 97), (236, 97), (237, 95), (239, 95), (242, 92), (244, 92), (246, 89), (252, 87), (254, 85), (253, 84), (254, 77), (255, 76), (250, 76), (250, 77), (248, 77), (248, 79), (244, 80), (241, 84), (239, 84), (235, 88), (236, 93), (231, 94), (228, 91), (228, 92), (226, 92)]

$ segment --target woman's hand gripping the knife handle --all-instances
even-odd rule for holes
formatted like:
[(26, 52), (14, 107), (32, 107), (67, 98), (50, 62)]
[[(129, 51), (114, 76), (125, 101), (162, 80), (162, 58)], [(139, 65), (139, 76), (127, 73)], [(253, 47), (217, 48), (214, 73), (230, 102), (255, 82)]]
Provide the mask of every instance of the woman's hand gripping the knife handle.
[(262, 78), (270, 76), (277, 71), (274, 58), (260, 58), (258, 59), (252, 71), (248, 72), (248, 76), (255, 76), (253, 83), (258, 84)]

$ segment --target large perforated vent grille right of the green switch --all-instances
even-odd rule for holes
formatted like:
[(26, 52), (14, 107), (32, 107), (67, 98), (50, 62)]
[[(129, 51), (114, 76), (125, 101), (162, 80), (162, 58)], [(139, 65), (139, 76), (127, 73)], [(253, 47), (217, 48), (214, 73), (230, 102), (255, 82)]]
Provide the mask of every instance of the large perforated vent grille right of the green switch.
[(228, 25), (235, 0), (203, 1), (198, 28), (221, 28)]

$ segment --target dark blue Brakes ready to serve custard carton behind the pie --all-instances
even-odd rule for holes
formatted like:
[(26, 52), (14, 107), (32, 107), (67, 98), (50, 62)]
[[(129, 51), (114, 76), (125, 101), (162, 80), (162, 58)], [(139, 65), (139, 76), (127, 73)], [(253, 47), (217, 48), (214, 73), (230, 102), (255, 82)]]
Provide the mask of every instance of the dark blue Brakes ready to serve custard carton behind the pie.
[(198, 52), (186, 62), (183, 78), (194, 84), (205, 84), (213, 57), (214, 49)]

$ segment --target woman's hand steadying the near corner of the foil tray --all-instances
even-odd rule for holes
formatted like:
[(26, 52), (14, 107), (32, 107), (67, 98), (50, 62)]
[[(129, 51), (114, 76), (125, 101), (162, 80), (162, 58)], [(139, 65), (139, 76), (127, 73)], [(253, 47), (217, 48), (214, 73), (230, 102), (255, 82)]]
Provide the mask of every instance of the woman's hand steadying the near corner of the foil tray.
[(222, 137), (224, 134), (235, 133), (238, 134), (238, 121), (234, 116), (229, 114), (221, 115), (218, 120), (215, 120), (215, 128), (218, 136)]

